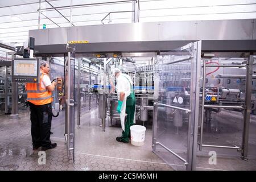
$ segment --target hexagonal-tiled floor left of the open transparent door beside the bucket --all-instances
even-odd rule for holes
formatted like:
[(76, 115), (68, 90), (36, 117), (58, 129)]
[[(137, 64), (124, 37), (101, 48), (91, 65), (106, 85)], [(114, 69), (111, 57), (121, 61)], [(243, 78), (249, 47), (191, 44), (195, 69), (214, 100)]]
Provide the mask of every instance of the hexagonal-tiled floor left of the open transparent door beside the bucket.
[(56, 148), (46, 151), (46, 164), (39, 165), (40, 148), (32, 150), (29, 115), (19, 114), (16, 120), (2, 115), (0, 119), (0, 170), (172, 170), (151, 152), (150, 139), (149, 145), (141, 147), (118, 143), (115, 137), (121, 128), (108, 127), (112, 131), (104, 133), (98, 121), (81, 122), (76, 129), (75, 163), (68, 158), (64, 142), (58, 141)]

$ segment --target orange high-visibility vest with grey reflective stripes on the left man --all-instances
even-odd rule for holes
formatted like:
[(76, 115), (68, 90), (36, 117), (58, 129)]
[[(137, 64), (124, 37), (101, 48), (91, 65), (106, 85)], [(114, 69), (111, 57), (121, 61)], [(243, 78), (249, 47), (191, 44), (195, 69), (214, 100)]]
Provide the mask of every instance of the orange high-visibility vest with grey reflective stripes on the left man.
[(41, 84), (43, 81), (43, 76), (47, 75), (42, 73), (40, 76), (40, 81), (36, 83), (27, 83), (27, 101), (34, 105), (44, 105), (49, 104), (53, 101), (52, 92), (48, 91), (46, 88), (42, 88)]

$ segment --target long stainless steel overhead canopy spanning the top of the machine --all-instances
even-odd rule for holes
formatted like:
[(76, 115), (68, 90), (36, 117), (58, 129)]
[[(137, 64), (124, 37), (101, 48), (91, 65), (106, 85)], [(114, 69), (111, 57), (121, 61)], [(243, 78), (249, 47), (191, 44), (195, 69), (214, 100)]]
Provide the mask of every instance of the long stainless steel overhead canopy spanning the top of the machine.
[[(29, 36), (35, 38), (37, 55), (64, 53), (67, 42), (72, 40), (89, 42), (76, 44), (77, 53), (170, 51), (195, 40), (203, 40), (204, 51), (249, 51), (256, 50), (254, 22), (245, 19), (104, 24), (30, 30)], [(209, 26), (214, 28), (209, 29)], [(59, 45), (53, 46), (56, 44)], [(42, 46), (47, 47), (43, 49)]]

